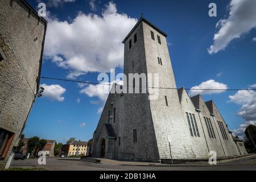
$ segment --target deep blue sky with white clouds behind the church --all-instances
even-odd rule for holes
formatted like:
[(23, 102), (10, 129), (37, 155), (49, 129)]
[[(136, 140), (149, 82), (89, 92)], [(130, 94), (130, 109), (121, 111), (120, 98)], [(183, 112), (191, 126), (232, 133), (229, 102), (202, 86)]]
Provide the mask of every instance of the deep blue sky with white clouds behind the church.
[[(28, 2), (35, 9), (44, 2), (48, 12), (42, 76), (97, 82), (98, 74), (110, 68), (122, 73), (121, 42), (143, 13), (168, 34), (177, 87), (255, 88), (256, 6), (247, 13), (237, 11), (250, 1), (214, 1), (217, 17), (208, 15), (213, 1), (205, 0)], [(225, 21), (216, 28), (221, 19)], [(214, 34), (219, 36), (213, 40)], [(35, 102), (26, 137), (38, 135), (58, 142), (92, 138), (106, 96), (93, 93), (93, 86), (74, 82), (42, 78), (41, 84), (46, 92)], [(254, 91), (201, 94), (205, 101), (214, 100), (229, 129), (238, 135), (249, 123), (255, 125)]]

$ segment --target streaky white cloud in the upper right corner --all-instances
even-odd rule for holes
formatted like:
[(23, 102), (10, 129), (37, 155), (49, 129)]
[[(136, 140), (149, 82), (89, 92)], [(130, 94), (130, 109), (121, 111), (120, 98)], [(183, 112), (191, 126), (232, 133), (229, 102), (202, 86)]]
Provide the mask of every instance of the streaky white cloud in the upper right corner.
[(232, 0), (229, 10), (228, 19), (221, 19), (216, 24), (220, 30), (214, 34), (214, 43), (208, 48), (210, 54), (225, 49), (233, 39), (256, 27), (256, 1)]

